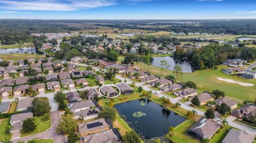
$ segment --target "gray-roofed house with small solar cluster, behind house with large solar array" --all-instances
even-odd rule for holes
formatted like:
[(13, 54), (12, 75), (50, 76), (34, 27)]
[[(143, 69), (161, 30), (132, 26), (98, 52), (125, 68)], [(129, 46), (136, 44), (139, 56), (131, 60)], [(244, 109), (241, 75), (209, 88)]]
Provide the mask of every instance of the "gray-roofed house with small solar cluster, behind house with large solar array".
[(81, 120), (88, 120), (98, 117), (99, 115), (99, 108), (90, 108), (88, 110), (82, 110), (74, 113), (74, 119), (81, 119)]

